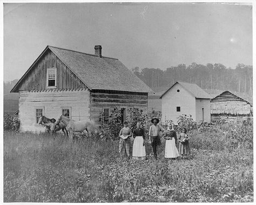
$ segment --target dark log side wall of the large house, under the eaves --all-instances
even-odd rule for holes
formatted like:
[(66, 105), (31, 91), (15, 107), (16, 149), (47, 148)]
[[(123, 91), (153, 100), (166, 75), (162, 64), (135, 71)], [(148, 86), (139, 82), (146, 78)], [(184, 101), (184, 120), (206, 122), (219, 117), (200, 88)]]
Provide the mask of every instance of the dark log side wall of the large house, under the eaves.
[[(109, 108), (109, 113), (114, 108), (136, 107), (147, 112), (147, 93), (131, 93), (117, 91), (92, 91), (90, 93), (90, 115), (91, 119), (98, 121), (99, 113), (104, 108)], [(126, 112), (127, 116), (127, 112)]]

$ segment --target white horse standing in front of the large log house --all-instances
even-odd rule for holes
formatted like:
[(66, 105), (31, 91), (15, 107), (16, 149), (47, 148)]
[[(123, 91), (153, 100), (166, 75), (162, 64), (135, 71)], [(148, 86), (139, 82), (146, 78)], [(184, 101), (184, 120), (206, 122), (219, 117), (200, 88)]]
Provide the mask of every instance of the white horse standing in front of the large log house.
[(56, 122), (56, 125), (59, 125), (61, 122), (66, 126), (66, 131), (69, 133), (70, 140), (73, 139), (73, 132), (83, 132), (86, 131), (85, 134), (89, 134), (89, 131), (87, 127), (96, 128), (97, 125), (95, 124), (95, 121), (85, 121), (85, 120), (71, 120), (63, 115), (61, 115)]

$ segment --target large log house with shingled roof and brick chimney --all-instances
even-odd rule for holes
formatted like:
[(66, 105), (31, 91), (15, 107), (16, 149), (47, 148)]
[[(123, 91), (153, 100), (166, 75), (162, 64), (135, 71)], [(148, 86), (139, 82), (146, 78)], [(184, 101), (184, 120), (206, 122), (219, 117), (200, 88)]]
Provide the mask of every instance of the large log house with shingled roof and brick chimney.
[(113, 108), (147, 110), (150, 87), (116, 58), (46, 46), (11, 92), (19, 93), (21, 131), (43, 131), (41, 114), (48, 118), (65, 115), (73, 120), (104, 120)]

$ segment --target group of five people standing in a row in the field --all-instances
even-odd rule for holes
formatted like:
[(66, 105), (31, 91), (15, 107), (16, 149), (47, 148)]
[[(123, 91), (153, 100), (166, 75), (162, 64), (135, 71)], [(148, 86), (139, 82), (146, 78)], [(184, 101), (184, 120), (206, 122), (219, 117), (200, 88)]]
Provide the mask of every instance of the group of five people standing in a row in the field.
[[(183, 132), (179, 135), (179, 150), (176, 147), (177, 144), (177, 134), (174, 131), (172, 124), (168, 124), (167, 130), (160, 125), (159, 119), (153, 118), (151, 120), (152, 125), (149, 129), (149, 143), (152, 146), (154, 158), (158, 159), (157, 156), (157, 146), (161, 144), (160, 132), (163, 132), (165, 142), (165, 158), (175, 159), (179, 155), (183, 158), (184, 155), (190, 154), (190, 147), (188, 143), (188, 136), (186, 134), (186, 129), (183, 129)], [(127, 122), (124, 122), (124, 127), (120, 130), (119, 133), (119, 153), (121, 159), (130, 158), (130, 138), (133, 136), (133, 146), (132, 146), (132, 159), (134, 160), (145, 160), (146, 159), (146, 150), (145, 150), (145, 133), (142, 127), (141, 122), (137, 122), (137, 127), (132, 131)]]

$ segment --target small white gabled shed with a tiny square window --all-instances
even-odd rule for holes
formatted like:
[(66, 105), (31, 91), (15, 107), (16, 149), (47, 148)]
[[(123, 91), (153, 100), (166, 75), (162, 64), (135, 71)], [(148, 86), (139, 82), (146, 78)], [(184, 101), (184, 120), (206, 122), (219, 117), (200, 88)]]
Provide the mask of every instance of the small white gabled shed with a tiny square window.
[(181, 114), (191, 115), (197, 122), (210, 122), (210, 95), (196, 84), (176, 82), (161, 96), (161, 121), (177, 124)]

